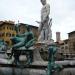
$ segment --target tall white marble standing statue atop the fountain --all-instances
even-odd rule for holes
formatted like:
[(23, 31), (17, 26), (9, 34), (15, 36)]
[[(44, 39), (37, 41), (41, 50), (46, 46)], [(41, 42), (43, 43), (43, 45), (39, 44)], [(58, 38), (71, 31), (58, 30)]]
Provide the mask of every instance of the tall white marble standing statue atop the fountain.
[(48, 41), (52, 38), (52, 31), (51, 31), (51, 21), (52, 19), (49, 18), (50, 14), (50, 5), (46, 3), (46, 0), (41, 0), (43, 5), (41, 9), (41, 22), (39, 26), (39, 42)]

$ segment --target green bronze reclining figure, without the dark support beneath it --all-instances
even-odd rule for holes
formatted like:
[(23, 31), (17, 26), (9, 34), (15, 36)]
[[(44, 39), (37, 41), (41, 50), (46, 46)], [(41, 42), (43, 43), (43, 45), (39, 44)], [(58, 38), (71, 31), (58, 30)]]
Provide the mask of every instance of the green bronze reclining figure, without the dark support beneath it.
[(27, 26), (27, 32), (25, 32), (24, 34), (18, 34), (16, 37), (12, 37), (11, 40), (14, 44), (12, 48), (17, 49), (23, 46), (25, 48), (29, 48), (34, 44), (34, 35), (30, 30), (30, 27)]

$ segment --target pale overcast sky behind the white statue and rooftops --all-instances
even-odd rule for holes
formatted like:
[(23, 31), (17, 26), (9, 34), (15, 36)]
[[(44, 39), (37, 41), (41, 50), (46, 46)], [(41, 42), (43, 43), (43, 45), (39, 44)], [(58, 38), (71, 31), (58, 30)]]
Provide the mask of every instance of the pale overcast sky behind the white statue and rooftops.
[[(68, 33), (75, 30), (75, 0), (47, 0), (52, 18), (52, 37), (61, 32), (61, 40), (68, 38)], [(40, 0), (2, 0), (0, 2), (0, 20), (12, 20), (39, 26)]]

